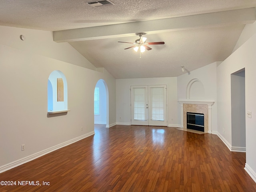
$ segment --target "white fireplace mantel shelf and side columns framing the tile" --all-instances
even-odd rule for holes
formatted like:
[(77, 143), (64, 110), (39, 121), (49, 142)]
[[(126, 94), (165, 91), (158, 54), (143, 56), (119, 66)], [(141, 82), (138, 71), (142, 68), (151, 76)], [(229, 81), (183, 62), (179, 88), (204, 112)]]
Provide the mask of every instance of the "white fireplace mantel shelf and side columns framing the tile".
[(194, 105), (208, 105), (208, 133), (212, 133), (212, 105), (214, 101), (207, 101), (207, 100), (179, 100), (181, 107), (181, 126), (183, 125), (183, 104), (194, 104)]

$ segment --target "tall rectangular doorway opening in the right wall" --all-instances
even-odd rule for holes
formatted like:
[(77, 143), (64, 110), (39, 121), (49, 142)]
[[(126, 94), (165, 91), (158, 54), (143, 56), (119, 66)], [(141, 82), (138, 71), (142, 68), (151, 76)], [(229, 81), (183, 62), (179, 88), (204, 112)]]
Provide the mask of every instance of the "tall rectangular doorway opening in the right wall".
[(245, 69), (231, 74), (232, 151), (246, 152)]

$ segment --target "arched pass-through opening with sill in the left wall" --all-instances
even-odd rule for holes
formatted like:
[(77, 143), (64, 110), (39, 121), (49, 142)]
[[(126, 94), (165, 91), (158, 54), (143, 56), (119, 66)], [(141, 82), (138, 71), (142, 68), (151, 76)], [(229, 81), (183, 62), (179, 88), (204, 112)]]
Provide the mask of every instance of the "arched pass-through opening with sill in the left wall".
[[(62, 78), (63, 87), (61, 91), (63, 94), (63, 101), (58, 101), (58, 85), (57, 79)], [(55, 70), (51, 72), (48, 78), (48, 112), (68, 110), (68, 86), (65, 75)]]

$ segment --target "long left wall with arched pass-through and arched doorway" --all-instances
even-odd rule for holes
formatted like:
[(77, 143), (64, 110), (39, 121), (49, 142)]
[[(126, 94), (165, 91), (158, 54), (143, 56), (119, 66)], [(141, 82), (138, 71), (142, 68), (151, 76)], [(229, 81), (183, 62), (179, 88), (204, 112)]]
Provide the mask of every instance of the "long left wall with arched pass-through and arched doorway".
[[(0, 172), (93, 134), (99, 79), (108, 84), (109, 121), (116, 122), (116, 84), (106, 70), (85, 68), (93, 66), (68, 43), (53, 42), (51, 32), (0, 26), (0, 34)], [(60, 116), (47, 115), (48, 77), (54, 70), (68, 84), (71, 111)]]

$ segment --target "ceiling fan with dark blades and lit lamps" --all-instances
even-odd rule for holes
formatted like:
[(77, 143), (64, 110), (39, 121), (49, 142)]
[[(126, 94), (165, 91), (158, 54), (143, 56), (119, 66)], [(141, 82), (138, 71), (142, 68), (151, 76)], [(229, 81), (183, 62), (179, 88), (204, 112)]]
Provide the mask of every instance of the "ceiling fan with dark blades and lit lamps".
[[(164, 42), (148, 42), (146, 43), (146, 37), (142, 37), (142, 35), (145, 33), (138, 33), (137, 35), (140, 37), (139, 39), (135, 40), (135, 43), (131, 43), (134, 44), (133, 46), (130, 46), (128, 48), (125, 49), (130, 49), (133, 48), (136, 52), (140, 49), (140, 58), (141, 58), (141, 53), (143, 53), (145, 50), (152, 50), (152, 48), (150, 48), (148, 45), (160, 45), (160, 44), (164, 44)], [(118, 41), (119, 43), (130, 43), (130, 42), (123, 42), (123, 41)]]

